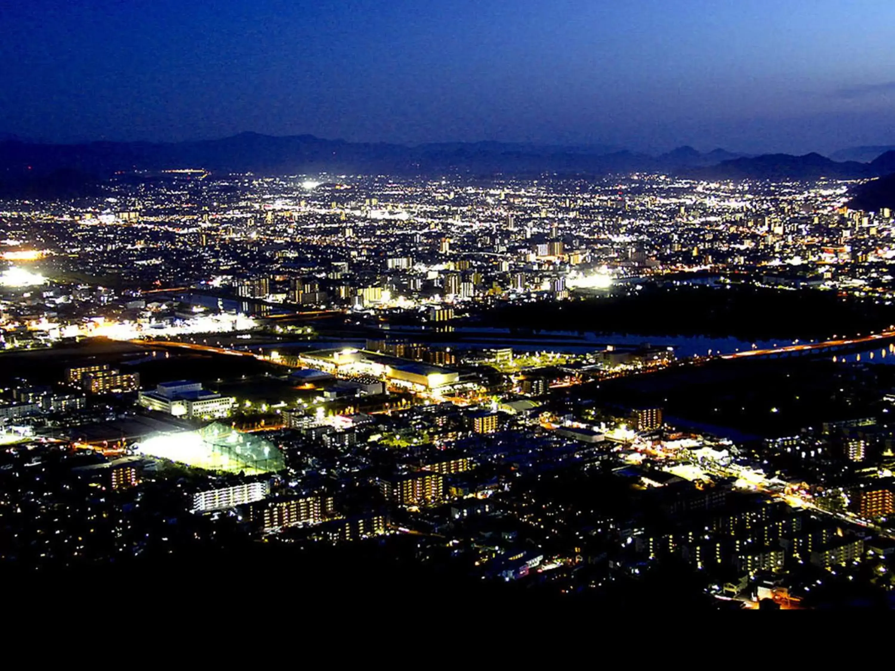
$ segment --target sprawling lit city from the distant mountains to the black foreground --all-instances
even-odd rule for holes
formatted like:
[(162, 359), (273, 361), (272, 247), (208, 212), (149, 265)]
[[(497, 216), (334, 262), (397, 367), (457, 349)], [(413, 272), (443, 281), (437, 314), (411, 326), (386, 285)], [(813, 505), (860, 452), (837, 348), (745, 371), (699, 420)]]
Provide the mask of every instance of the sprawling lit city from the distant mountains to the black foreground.
[(895, 224), (859, 182), (2, 200), (0, 571), (888, 606)]

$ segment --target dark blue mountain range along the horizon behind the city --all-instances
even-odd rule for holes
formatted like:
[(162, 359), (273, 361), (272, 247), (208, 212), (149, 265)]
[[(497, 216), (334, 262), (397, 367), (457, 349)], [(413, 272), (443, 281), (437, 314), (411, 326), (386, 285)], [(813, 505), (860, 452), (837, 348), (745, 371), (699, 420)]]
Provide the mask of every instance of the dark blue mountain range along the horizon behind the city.
[(417, 146), (275, 137), (243, 132), (219, 140), (43, 144), (0, 138), (0, 182), (21, 175), (75, 170), (116, 172), (205, 168), (254, 174), (630, 174), (661, 172), (721, 179), (873, 177), (895, 172), (895, 152), (870, 163), (837, 162), (819, 154), (749, 157), (725, 149), (679, 147), (660, 156), (604, 145), (547, 146), (510, 142), (439, 142)]

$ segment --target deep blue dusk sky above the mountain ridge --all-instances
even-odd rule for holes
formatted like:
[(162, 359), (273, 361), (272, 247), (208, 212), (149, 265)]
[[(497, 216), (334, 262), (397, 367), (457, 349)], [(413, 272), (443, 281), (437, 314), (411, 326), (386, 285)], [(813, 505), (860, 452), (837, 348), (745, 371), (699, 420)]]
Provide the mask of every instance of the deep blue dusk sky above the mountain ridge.
[(0, 132), (895, 143), (891, 0), (0, 0)]

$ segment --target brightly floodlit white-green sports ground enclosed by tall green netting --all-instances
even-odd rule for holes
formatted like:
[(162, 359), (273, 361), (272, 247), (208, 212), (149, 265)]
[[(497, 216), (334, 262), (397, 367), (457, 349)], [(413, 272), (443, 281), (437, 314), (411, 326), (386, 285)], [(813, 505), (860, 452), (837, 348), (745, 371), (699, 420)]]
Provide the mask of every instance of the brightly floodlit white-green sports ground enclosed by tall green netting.
[(208, 471), (246, 475), (282, 471), (283, 454), (269, 440), (214, 422), (195, 431), (162, 433), (136, 446), (139, 454)]

